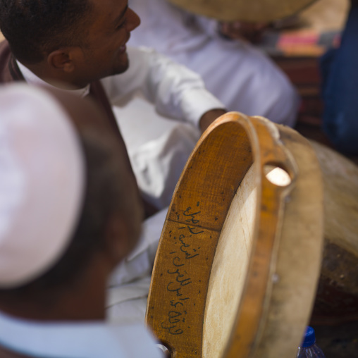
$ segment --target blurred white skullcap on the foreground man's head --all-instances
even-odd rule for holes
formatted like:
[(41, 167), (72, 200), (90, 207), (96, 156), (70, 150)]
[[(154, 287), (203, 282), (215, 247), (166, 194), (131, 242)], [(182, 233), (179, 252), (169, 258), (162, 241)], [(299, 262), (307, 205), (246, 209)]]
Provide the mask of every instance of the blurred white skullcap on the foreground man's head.
[(50, 94), (0, 88), (0, 288), (61, 257), (82, 207), (85, 163), (68, 114)]

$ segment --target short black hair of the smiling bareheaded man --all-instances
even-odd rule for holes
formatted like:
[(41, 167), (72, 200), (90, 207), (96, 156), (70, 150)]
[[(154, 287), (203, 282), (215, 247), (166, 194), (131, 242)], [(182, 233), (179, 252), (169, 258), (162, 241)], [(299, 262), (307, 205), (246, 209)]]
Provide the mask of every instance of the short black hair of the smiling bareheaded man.
[(38, 63), (51, 51), (82, 46), (90, 0), (0, 0), (0, 30), (13, 55)]

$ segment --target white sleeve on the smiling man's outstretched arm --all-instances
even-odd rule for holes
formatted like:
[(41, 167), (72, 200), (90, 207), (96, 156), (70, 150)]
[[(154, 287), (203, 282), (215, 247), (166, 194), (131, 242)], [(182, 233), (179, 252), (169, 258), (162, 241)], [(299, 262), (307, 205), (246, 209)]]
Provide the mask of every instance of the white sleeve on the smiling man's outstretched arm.
[(125, 73), (101, 80), (112, 103), (121, 106), (140, 91), (161, 115), (194, 125), (206, 111), (225, 108), (197, 73), (153, 49), (128, 48), (128, 58)]

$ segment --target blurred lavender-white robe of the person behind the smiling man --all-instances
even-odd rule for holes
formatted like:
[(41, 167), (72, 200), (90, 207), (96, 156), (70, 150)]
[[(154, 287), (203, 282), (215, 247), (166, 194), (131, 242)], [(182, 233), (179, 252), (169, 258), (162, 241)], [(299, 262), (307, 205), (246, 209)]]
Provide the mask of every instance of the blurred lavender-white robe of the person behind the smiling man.
[(130, 0), (141, 18), (131, 46), (153, 47), (199, 73), (228, 111), (294, 125), (297, 94), (285, 75), (251, 44), (223, 39), (216, 20), (187, 13), (166, 0)]

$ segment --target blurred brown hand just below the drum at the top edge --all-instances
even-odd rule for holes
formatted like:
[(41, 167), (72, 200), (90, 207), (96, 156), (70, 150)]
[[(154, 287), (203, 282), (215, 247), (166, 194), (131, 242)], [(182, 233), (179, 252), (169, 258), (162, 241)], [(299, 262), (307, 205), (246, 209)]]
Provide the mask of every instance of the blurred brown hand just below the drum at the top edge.
[(262, 32), (269, 26), (268, 23), (219, 23), (221, 35), (229, 39), (242, 39), (248, 42), (259, 42)]

